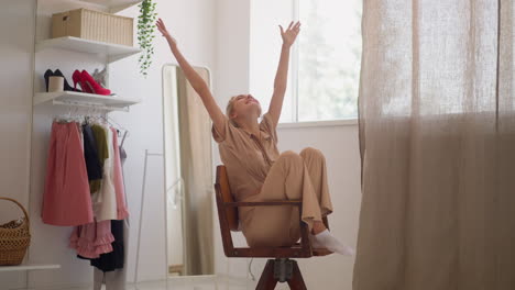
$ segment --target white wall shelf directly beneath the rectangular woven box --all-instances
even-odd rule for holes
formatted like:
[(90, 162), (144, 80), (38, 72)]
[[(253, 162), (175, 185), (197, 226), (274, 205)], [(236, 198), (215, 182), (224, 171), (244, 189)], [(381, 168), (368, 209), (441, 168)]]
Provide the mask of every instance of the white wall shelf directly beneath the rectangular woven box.
[(133, 46), (89, 41), (74, 36), (50, 38), (39, 42), (36, 44), (35, 51), (37, 53), (44, 49), (53, 48), (106, 55), (109, 63), (141, 52), (140, 48)]

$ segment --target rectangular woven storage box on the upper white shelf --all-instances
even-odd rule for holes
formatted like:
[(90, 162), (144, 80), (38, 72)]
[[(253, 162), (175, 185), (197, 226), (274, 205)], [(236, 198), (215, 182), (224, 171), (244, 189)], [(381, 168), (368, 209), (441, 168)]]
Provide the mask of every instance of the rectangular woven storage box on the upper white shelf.
[(90, 41), (133, 45), (133, 19), (88, 9), (52, 15), (52, 38), (75, 36)]

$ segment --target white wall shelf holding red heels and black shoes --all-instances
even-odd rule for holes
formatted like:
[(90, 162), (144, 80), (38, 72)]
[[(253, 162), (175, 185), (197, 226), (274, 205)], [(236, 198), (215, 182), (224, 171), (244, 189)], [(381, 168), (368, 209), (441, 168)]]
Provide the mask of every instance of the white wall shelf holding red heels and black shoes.
[(118, 96), (100, 96), (76, 91), (40, 92), (34, 96), (33, 104), (61, 104), (72, 107), (85, 107), (102, 111), (129, 111), (129, 107), (139, 103), (140, 100), (120, 98)]

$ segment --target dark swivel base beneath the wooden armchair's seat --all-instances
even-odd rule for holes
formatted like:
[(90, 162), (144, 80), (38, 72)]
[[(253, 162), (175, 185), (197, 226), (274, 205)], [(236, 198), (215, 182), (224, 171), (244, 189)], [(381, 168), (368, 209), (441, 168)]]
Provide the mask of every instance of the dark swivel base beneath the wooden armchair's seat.
[(288, 258), (269, 259), (255, 290), (273, 290), (277, 282), (287, 282), (292, 290), (307, 290), (297, 261)]

